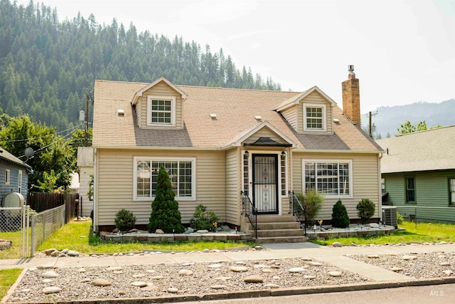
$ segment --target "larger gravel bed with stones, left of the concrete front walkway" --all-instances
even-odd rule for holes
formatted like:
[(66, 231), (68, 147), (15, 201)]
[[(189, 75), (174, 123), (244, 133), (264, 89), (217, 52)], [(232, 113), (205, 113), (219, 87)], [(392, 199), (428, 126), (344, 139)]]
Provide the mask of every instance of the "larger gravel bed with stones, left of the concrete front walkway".
[[(119, 267), (30, 268), (18, 283), (9, 302), (203, 295), (368, 281), (358, 274), (314, 261), (312, 258)], [(103, 284), (105, 286), (99, 286)], [(46, 294), (45, 288), (58, 291)]]

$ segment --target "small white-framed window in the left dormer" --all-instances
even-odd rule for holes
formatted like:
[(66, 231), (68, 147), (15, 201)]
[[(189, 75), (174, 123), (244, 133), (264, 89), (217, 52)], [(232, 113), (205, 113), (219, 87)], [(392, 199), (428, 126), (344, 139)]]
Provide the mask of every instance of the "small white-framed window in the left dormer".
[(175, 97), (149, 96), (147, 101), (147, 125), (176, 125)]

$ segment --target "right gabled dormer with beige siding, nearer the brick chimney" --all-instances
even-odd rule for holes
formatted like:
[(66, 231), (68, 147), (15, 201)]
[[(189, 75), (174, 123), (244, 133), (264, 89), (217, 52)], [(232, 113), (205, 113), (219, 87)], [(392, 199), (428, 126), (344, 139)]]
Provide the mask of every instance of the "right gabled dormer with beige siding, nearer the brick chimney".
[(285, 100), (275, 110), (283, 115), (296, 132), (331, 134), (332, 108), (335, 106), (336, 102), (333, 99), (314, 86)]

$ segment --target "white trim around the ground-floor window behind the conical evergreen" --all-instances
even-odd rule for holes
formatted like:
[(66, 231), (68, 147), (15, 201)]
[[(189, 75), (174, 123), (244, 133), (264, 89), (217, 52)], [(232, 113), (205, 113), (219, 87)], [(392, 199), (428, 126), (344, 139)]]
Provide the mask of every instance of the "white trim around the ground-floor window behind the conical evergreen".
[(156, 161), (183, 161), (192, 162), (193, 172), (191, 172), (191, 196), (175, 196), (176, 201), (196, 201), (196, 157), (134, 157), (133, 160), (133, 200), (134, 201), (150, 201), (154, 200), (155, 196), (137, 197), (137, 162), (156, 162)]

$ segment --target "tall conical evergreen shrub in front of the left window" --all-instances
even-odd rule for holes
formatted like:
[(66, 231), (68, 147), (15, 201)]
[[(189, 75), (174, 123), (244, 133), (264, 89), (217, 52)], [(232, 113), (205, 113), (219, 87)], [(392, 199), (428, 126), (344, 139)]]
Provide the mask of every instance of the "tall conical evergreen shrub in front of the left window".
[(181, 234), (185, 231), (181, 223), (180, 211), (178, 211), (178, 202), (174, 199), (175, 196), (169, 174), (161, 166), (156, 178), (155, 199), (151, 203), (149, 232), (154, 233), (156, 229), (161, 229), (165, 234)]

